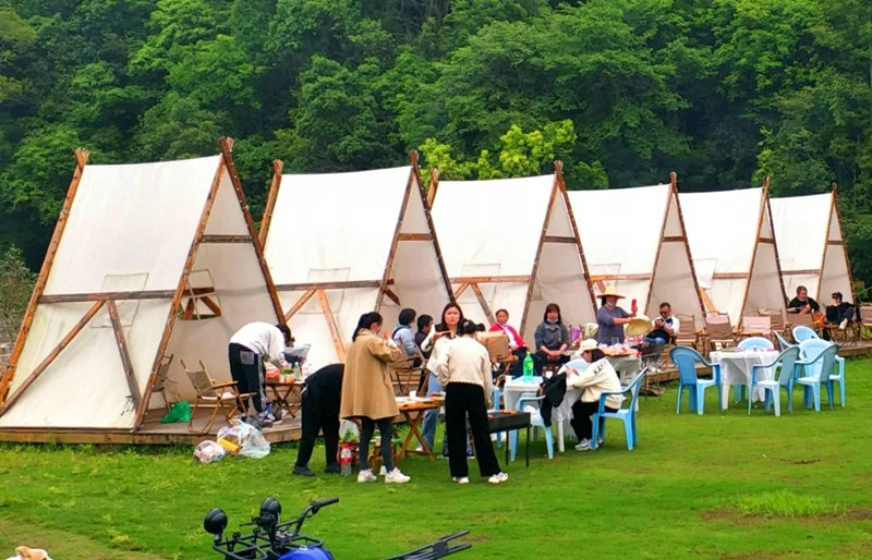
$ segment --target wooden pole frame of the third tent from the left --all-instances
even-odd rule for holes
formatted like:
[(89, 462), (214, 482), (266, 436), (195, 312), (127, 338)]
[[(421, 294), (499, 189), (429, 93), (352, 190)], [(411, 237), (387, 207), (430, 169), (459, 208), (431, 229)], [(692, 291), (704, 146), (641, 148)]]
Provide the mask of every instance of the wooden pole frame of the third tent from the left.
[[(431, 185), (429, 191), (427, 192), (427, 200), (429, 205), (433, 205), (439, 187), (439, 173), (437, 170), (431, 170)], [(552, 210), (554, 209), (554, 205), (557, 202), (557, 196), (560, 196), (564, 200), (564, 205), (567, 210), (567, 215), (569, 216), (569, 223), (572, 229), (572, 235), (561, 236), (561, 235), (547, 235), (548, 226), (550, 224), (552, 219)], [(564, 162), (558, 160), (554, 161), (554, 183), (552, 184), (552, 192), (548, 197), (548, 208), (545, 211), (545, 218), (542, 222), (542, 233), (540, 234), (538, 243), (536, 244), (536, 256), (533, 259), (533, 268), (530, 275), (501, 275), (501, 276), (479, 276), (479, 277), (453, 277), (449, 278), (449, 281), (452, 285), (457, 285), (453, 290), (453, 299), (457, 300), (460, 297), (463, 292), (471, 289), (475, 294), (476, 300), (479, 300), (479, 305), (481, 305), (482, 311), (487, 317), (487, 320), (493, 325), (496, 322), (496, 317), (494, 315), (494, 311), (491, 309), (491, 306), (487, 304), (487, 300), (484, 297), (484, 292), (482, 292), (481, 284), (486, 283), (504, 283), (504, 282), (526, 282), (526, 297), (524, 301), (524, 311), (521, 315), (521, 325), (518, 332), (524, 332), (524, 328), (526, 327), (528, 315), (530, 311), (530, 299), (533, 295), (533, 290), (535, 288), (536, 278), (538, 276), (538, 264), (540, 258), (542, 256), (542, 249), (544, 248), (545, 243), (569, 243), (577, 247), (579, 259), (581, 261), (582, 273), (584, 276), (584, 282), (588, 285), (588, 293), (591, 296), (591, 306), (594, 313), (596, 313), (596, 299), (593, 295), (593, 287), (591, 284), (591, 275), (590, 270), (588, 269), (588, 261), (584, 258), (584, 251), (581, 248), (581, 236), (579, 234), (579, 228), (576, 224), (576, 217), (572, 215), (571, 205), (569, 204), (569, 195), (566, 191), (566, 183), (564, 182)]]

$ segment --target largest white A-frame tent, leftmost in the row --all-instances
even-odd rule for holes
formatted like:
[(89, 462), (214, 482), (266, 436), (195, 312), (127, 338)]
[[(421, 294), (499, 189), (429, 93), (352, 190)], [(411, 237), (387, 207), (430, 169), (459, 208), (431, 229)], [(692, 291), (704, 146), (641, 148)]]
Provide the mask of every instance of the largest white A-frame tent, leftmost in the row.
[(0, 386), (0, 429), (136, 431), (164, 356), (229, 379), (243, 324), (281, 317), (230, 157), (77, 167)]

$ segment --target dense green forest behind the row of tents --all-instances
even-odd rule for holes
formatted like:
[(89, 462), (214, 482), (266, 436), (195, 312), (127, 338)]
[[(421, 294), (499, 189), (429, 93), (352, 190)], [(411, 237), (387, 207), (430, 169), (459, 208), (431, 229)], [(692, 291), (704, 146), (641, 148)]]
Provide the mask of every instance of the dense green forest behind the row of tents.
[(38, 266), (92, 162), (234, 159), (570, 188), (838, 183), (872, 284), (869, 0), (0, 0), (0, 249)]

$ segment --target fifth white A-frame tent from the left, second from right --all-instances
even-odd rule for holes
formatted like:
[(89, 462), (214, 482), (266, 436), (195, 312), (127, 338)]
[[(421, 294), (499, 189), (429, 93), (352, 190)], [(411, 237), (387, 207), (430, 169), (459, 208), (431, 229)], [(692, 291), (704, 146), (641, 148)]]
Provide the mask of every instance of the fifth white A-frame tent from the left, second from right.
[(700, 295), (735, 325), (746, 309), (786, 313), (767, 185), (679, 195)]

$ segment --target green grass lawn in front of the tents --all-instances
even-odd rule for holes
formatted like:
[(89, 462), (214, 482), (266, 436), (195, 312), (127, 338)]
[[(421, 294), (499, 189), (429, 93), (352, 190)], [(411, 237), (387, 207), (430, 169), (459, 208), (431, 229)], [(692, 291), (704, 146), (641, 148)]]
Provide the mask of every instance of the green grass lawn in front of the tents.
[[(407, 485), (292, 477), (293, 446), (263, 460), (202, 465), (192, 449), (0, 447), (0, 558), (16, 545), (57, 559), (218, 558), (201, 523), (220, 506), (230, 527), (266, 496), (294, 513), (310, 499), (340, 502), (306, 524), (338, 559), (383, 558), (470, 529), (456, 558), (872, 557), (872, 361), (849, 361), (848, 407), (776, 418), (741, 405), (675, 414), (675, 386), (642, 400), (640, 446), (620, 423), (605, 447), (545, 456), (509, 482), (458, 486), (447, 461), (410, 458)], [(731, 400), (731, 399), (730, 399)], [(323, 447), (313, 468), (323, 467)], [(471, 465), (477, 473), (476, 465)], [(452, 557), (455, 558), (455, 557)]]

